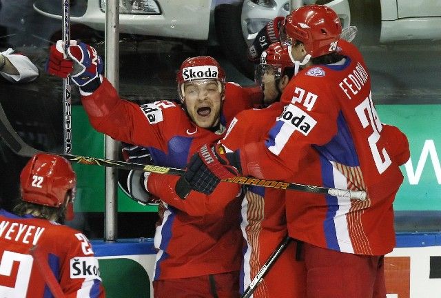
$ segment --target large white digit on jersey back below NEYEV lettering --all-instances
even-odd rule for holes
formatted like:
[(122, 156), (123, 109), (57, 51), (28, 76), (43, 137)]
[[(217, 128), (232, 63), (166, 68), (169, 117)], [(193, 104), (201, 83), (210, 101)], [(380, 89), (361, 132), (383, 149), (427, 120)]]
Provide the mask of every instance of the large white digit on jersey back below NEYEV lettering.
[[(0, 285), (0, 297), (10, 298), (26, 298), (28, 292), (30, 271), (34, 259), (30, 255), (23, 255), (17, 252), (5, 250), (0, 263), (0, 275), (3, 278), (14, 279), (10, 284), (14, 284), (14, 288)], [(19, 262), (19, 270), (17, 276), (11, 276), (14, 262)]]

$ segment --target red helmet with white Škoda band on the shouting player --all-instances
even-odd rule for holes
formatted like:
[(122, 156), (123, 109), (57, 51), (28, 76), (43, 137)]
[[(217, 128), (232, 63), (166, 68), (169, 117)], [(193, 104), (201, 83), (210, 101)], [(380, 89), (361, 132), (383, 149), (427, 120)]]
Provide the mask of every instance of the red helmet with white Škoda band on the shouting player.
[(216, 59), (210, 56), (198, 56), (185, 59), (176, 74), (178, 93), (184, 101), (184, 83), (195, 80), (215, 79), (218, 81), (219, 92), (223, 95), (225, 88), (225, 71)]

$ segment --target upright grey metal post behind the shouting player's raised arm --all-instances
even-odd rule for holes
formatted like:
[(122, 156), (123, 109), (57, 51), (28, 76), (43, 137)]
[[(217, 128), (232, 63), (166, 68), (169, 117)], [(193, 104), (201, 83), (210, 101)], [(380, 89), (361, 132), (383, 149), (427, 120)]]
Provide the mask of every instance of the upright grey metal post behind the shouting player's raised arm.
[[(119, 90), (119, 0), (107, 0), (105, 6), (105, 77)], [(105, 158), (118, 159), (118, 143), (105, 136)], [(105, 241), (117, 239), (117, 175), (115, 168), (105, 168)]]

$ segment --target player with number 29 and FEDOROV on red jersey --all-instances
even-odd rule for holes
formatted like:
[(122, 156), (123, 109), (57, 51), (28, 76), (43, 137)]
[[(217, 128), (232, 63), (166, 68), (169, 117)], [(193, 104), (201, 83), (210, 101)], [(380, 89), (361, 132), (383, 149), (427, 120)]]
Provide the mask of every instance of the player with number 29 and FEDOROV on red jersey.
[(380, 122), (365, 61), (340, 39), (333, 10), (303, 6), (280, 29), (299, 71), (281, 97), (283, 112), (264, 141), (226, 154), (214, 146), (209, 160), (202, 150), (194, 155), (187, 183), (209, 192), (240, 174), (366, 190), (364, 201), (286, 192), (287, 224), (305, 241), (307, 297), (385, 297), (383, 255), (395, 246), (392, 203), (407, 137)]

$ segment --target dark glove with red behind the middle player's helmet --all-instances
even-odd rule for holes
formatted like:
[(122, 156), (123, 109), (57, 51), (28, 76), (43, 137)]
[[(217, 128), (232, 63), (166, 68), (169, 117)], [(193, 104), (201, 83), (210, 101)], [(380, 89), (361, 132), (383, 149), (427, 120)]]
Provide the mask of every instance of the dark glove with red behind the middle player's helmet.
[(258, 63), (260, 55), (266, 50), (271, 43), (275, 43), (279, 39), (279, 30), (285, 21), (285, 17), (276, 17), (276, 19), (267, 23), (265, 27), (257, 33), (253, 44), (249, 46), (247, 56), (250, 61)]

